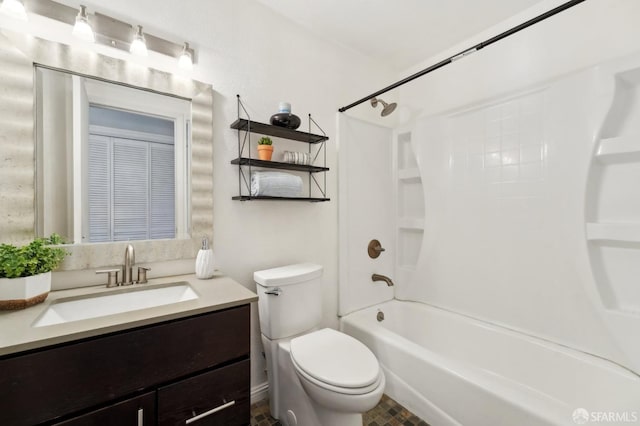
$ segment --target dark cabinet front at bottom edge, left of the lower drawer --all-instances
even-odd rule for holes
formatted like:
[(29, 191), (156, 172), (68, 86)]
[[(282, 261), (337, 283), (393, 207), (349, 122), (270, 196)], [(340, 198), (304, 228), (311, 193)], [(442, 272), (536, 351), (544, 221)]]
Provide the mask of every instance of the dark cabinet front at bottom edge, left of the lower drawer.
[(55, 423), (55, 426), (154, 426), (156, 393), (127, 399), (96, 411)]

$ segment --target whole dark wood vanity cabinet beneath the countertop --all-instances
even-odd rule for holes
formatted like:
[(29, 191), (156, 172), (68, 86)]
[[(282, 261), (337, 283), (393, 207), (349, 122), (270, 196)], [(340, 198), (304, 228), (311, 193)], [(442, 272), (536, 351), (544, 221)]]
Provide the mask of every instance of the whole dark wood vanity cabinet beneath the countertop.
[(5, 356), (0, 425), (247, 425), (249, 324), (243, 305)]

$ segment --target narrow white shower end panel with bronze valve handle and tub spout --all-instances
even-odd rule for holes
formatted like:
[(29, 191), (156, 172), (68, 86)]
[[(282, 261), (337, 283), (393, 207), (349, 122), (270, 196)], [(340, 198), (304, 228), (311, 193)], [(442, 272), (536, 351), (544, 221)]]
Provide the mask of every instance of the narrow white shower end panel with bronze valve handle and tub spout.
[[(339, 315), (393, 299), (394, 287), (371, 280), (395, 280), (391, 137), (391, 129), (338, 115), (339, 276), (348, 283), (338, 287)], [(367, 254), (372, 239), (385, 248), (376, 259)]]

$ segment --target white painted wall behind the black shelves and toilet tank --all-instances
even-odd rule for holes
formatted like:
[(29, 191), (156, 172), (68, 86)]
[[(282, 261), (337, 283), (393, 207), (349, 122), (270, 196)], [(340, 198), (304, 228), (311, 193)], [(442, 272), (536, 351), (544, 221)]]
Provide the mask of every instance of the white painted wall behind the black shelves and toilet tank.
[[(70, 6), (80, 2), (64, 1)], [(213, 249), (220, 268), (250, 289), (253, 271), (295, 262), (324, 265), (324, 325), (337, 326), (337, 151), (335, 114), (338, 107), (387, 84), (392, 75), (380, 64), (321, 40), (301, 27), (250, 0), (112, 0), (83, 2), (98, 11), (175, 42), (188, 41), (197, 51), (192, 77), (214, 89), (214, 229)], [(56, 41), (81, 45), (57, 22), (32, 20), (27, 28)], [(0, 26), (16, 24), (0, 19)], [(181, 73), (175, 61), (151, 54), (134, 58), (111, 49), (90, 49), (132, 63)], [(330, 202), (239, 202), (236, 132), (236, 94), (251, 118), (268, 122), (278, 101), (291, 102), (303, 119), (311, 113), (330, 137), (327, 176)], [(371, 114), (363, 111), (360, 115)], [(276, 143), (276, 150), (306, 149), (301, 144)], [(280, 146), (279, 146), (280, 145)], [(261, 357), (257, 307), (253, 310), (252, 385), (266, 381)]]

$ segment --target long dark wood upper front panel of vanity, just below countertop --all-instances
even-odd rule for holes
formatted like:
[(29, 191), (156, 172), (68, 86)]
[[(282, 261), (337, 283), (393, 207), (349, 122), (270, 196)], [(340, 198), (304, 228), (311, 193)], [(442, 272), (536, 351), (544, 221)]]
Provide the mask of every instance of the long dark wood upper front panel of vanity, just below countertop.
[(0, 425), (56, 419), (248, 357), (249, 319), (244, 305), (0, 360)]

